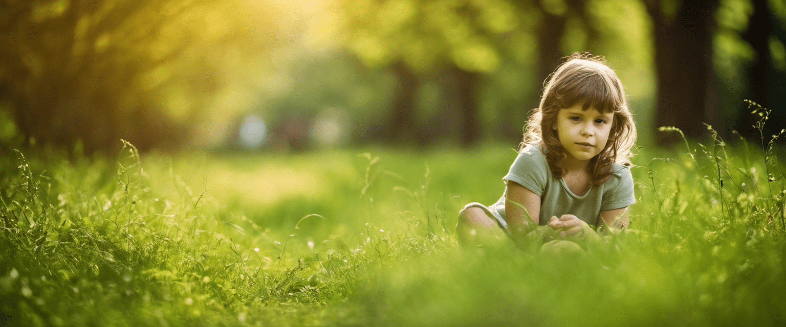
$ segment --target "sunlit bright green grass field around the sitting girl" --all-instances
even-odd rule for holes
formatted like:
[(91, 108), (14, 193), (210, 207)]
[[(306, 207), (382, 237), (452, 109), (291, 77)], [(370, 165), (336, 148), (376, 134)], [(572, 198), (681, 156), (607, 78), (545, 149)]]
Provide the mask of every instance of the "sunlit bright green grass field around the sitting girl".
[[(782, 151), (645, 147), (587, 256), (459, 249), (512, 145), (306, 154), (9, 151), (6, 325), (783, 325)], [(767, 164), (765, 162), (768, 162)]]

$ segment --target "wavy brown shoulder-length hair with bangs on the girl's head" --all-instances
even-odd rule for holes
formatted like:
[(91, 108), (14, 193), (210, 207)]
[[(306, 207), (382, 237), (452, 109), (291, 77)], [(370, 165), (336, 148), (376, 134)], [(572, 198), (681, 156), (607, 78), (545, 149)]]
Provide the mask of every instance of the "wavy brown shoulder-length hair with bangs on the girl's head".
[(540, 146), (553, 175), (565, 176), (563, 164), (567, 155), (552, 127), (560, 109), (580, 103), (583, 103), (582, 110), (592, 107), (604, 114), (614, 114), (606, 147), (589, 161), (593, 183), (599, 185), (612, 176), (612, 163), (631, 165), (631, 149), (636, 143), (636, 125), (623, 83), (603, 56), (574, 53), (546, 78), (540, 106), (530, 111), (520, 151), (528, 144)]

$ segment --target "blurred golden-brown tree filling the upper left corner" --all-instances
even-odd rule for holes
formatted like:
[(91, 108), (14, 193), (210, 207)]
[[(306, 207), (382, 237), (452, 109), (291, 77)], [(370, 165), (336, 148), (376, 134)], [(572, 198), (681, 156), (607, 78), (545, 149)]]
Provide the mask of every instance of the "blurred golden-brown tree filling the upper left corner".
[[(0, 102), (13, 107), (28, 141), (83, 140), (88, 151), (117, 147), (120, 138), (142, 149), (180, 144), (222, 88), (205, 48), (222, 49), (248, 31), (208, 24), (211, 16), (241, 17), (232, 5), (0, 2)], [(185, 100), (172, 105), (173, 97)]]

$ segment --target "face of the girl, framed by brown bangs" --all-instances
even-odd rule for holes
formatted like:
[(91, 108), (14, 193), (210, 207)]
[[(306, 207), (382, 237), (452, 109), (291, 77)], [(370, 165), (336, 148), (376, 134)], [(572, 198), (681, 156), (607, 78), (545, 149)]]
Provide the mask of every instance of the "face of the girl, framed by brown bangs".
[(589, 161), (603, 151), (612, 130), (614, 114), (601, 114), (594, 107), (582, 111), (582, 105), (560, 109), (554, 129), (560, 137), (568, 159)]

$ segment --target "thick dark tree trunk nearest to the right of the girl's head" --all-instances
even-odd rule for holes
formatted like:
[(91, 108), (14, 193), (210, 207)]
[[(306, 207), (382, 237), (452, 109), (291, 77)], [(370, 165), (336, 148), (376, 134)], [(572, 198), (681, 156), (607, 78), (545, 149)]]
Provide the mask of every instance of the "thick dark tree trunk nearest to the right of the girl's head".
[[(656, 127), (675, 126), (685, 136), (706, 135), (702, 122), (717, 126), (712, 35), (718, 0), (682, 1), (667, 17), (659, 2), (645, 2), (655, 32)], [(660, 134), (664, 142), (674, 135)]]

